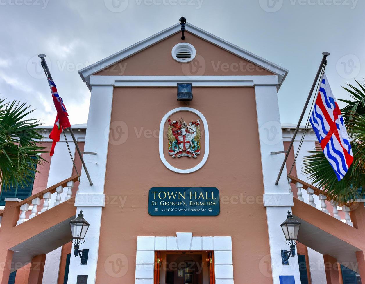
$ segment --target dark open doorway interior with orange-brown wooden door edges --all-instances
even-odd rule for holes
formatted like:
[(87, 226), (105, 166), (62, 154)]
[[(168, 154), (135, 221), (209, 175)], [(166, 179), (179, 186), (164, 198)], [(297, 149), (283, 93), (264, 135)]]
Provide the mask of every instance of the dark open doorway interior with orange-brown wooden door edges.
[(214, 251), (155, 251), (154, 284), (215, 284)]

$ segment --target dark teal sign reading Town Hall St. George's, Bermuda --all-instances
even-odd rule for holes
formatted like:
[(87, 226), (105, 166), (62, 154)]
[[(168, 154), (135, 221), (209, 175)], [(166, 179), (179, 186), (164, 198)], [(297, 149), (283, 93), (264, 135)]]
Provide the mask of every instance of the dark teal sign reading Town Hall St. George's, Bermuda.
[(148, 213), (151, 216), (217, 216), (217, 188), (151, 188)]

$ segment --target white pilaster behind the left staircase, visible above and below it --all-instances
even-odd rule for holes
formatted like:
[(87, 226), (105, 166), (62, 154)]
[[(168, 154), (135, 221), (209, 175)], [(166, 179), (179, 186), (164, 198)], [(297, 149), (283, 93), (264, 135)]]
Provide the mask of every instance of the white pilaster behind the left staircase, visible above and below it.
[[(65, 130), (66, 131), (66, 130)], [(70, 142), (72, 138), (70, 134), (67, 133), (69, 146), (71, 153), (75, 153), (75, 144)], [(60, 137), (61, 141), (57, 142), (56, 147), (54, 149), (54, 154), (51, 159), (49, 174), (48, 174), (48, 181), (47, 181), (47, 188), (52, 185), (58, 184), (58, 182), (65, 180), (66, 178), (71, 177), (73, 164), (70, 158), (70, 154), (65, 142), (64, 135)], [(65, 200), (65, 194), (67, 190), (64, 190), (64, 193), (61, 194), (61, 202)], [(49, 207), (51, 209), (56, 201), (57, 193), (53, 193), (49, 200)], [(47, 253), (46, 255), (46, 263), (43, 273), (43, 280), (42, 284), (57, 284), (58, 282), (58, 273), (59, 273), (59, 264), (61, 262), (61, 253), (62, 247), (55, 249), (54, 251)]]

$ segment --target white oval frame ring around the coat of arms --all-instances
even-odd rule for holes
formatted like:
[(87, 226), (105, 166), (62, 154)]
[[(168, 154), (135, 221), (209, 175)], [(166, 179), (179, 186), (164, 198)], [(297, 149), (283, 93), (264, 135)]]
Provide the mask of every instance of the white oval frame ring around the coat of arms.
[[(172, 165), (169, 164), (169, 162), (166, 160), (165, 155), (164, 155), (164, 126), (165, 126), (167, 119), (174, 113), (177, 113), (178, 111), (190, 111), (191, 113), (196, 114), (197, 116), (199, 116), (199, 118), (201, 119), (201, 121), (203, 122), (203, 125), (204, 125), (204, 133), (205, 133), (204, 156), (203, 156), (203, 159), (201, 159), (199, 164), (197, 164), (195, 167), (192, 167), (190, 169), (178, 169), (177, 167), (173, 167)], [(158, 139), (158, 143), (159, 143), (159, 148), (160, 148), (160, 159), (161, 159), (162, 163), (164, 163), (164, 165), (169, 170), (172, 170), (175, 173), (180, 173), (180, 174), (189, 174), (196, 170), (199, 170), (202, 166), (204, 166), (205, 162), (208, 159), (208, 155), (209, 155), (209, 130), (208, 130), (207, 119), (205, 119), (204, 115), (200, 111), (193, 109), (191, 107), (177, 107), (176, 109), (170, 110), (168, 113), (166, 113), (164, 115), (164, 117), (161, 120), (160, 137)]]

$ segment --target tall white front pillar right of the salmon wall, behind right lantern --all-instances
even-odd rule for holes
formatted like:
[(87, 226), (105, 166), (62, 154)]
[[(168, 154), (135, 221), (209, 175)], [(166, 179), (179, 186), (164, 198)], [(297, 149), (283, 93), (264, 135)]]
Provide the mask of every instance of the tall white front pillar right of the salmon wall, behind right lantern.
[[(280, 224), (292, 210), (293, 197), (288, 192), (287, 170), (284, 167), (278, 185), (275, 185), (284, 155), (270, 155), (270, 152), (283, 151), (276, 86), (255, 86), (257, 121), (260, 137), (262, 174), (264, 180), (264, 206), (268, 220), (270, 257), (273, 284), (280, 284), (280, 275), (294, 277), (300, 283), (298, 258), (290, 257), (289, 265), (281, 263), (281, 249), (289, 249)], [(266, 272), (265, 272), (266, 273)], [(268, 279), (268, 282), (270, 280)]]

